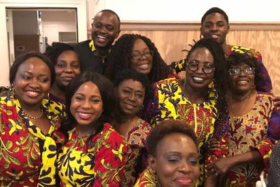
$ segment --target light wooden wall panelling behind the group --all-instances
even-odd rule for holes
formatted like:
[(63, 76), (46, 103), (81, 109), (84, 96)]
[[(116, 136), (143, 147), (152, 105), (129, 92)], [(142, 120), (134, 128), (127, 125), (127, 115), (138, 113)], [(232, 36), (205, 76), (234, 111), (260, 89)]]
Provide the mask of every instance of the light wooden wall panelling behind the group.
[[(199, 40), (199, 23), (122, 23), (122, 34), (147, 36), (155, 43), (167, 64), (186, 56), (188, 44)], [(90, 29), (88, 29), (90, 37)], [(280, 95), (280, 25), (233, 23), (227, 42), (260, 51), (272, 79), (273, 92)]]

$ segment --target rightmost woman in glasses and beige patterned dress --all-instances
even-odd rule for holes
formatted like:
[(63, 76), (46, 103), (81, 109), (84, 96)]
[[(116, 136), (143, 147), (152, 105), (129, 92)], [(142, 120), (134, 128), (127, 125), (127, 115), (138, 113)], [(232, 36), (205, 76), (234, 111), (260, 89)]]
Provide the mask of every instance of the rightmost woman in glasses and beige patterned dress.
[(210, 164), (208, 169), (212, 174), (221, 174), (221, 186), (251, 187), (268, 162), (273, 142), (279, 140), (280, 115), (275, 112), (272, 96), (255, 89), (260, 80), (257, 60), (233, 53), (228, 62), (227, 157)]

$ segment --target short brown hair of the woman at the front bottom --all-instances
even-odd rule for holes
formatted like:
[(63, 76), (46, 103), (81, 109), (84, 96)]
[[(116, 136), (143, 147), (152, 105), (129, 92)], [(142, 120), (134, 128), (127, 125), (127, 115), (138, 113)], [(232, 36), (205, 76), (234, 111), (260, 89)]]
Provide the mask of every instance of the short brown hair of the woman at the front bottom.
[(148, 153), (156, 157), (156, 147), (158, 142), (165, 136), (173, 133), (180, 133), (190, 137), (195, 142), (196, 147), (198, 146), (197, 135), (193, 130), (193, 127), (185, 123), (184, 121), (178, 120), (165, 120), (161, 121), (152, 129), (150, 136), (148, 136)]

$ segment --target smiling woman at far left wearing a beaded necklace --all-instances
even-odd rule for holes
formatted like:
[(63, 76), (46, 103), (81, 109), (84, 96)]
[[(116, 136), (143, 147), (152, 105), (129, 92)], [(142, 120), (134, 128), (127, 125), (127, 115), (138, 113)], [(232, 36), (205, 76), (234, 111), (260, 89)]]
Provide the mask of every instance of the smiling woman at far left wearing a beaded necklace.
[(12, 89), (0, 99), (0, 186), (55, 186), (57, 129), (65, 112), (64, 105), (44, 99), (54, 79), (41, 53), (12, 65)]

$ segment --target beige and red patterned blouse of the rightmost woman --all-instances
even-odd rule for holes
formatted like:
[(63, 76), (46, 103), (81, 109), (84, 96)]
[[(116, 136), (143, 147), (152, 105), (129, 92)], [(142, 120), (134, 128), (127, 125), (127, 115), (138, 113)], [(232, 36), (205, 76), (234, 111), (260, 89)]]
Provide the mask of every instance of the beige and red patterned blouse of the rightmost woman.
[[(232, 156), (257, 149), (267, 166), (273, 142), (280, 138), (280, 114), (274, 108), (272, 96), (258, 93), (255, 105), (249, 113), (231, 116), (227, 154)], [(278, 130), (273, 132), (272, 129), (276, 128)], [(223, 186), (255, 186), (261, 171), (262, 166), (255, 162), (240, 164), (229, 171)]]

